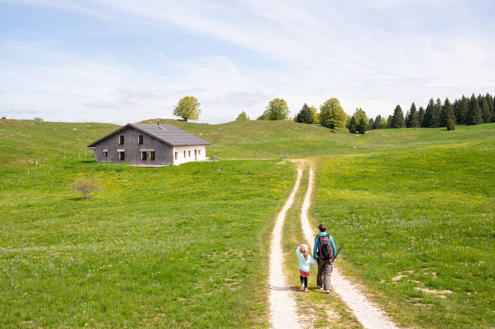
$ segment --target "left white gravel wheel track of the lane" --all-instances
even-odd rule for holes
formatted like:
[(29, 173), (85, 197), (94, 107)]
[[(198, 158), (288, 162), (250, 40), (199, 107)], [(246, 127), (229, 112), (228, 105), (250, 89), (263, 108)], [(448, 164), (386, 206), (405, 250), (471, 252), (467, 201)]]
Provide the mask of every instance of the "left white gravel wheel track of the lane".
[(284, 208), (279, 212), (275, 227), (272, 231), (272, 241), (270, 246), (270, 322), (272, 329), (299, 329), (297, 316), (297, 305), (294, 292), (287, 285), (285, 276), (282, 273), (282, 264), (284, 262), (284, 254), (282, 251), (282, 229), (287, 210), (292, 206), (294, 197), (299, 189), (301, 181), (302, 169), (297, 167), (297, 179), (294, 190), (292, 191), (289, 200), (287, 200)]

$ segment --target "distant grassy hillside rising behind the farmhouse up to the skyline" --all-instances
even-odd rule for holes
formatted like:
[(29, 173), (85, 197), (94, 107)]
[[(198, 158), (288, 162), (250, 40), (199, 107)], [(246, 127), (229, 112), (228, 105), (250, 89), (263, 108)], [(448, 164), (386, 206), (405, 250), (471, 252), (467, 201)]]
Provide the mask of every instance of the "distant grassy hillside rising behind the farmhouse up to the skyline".
[[(346, 128), (328, 129), (287, 121), (234, 121), (208, 124), (161, 119), (212, 143), (208, 156), (223, 158), (291, 158), (369, 153), (384, 149), (493, 140), (495, 123), (445, 128), (383, 129), (364, 135)], [(149, 119), (140, 123), (156, 123)], [(59, 123), (34, 120), (0, 121), (0, 166), (35, 162), (47, 156), (86, 155), (86, 146), (118, 128), (110, 123)], [(354, 149), (353, 146), (356, 146)]]

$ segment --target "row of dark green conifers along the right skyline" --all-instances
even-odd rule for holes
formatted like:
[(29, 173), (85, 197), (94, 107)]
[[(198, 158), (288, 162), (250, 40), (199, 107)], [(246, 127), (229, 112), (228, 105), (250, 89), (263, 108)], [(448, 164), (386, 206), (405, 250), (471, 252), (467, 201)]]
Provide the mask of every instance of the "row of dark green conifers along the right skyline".
[(480, 124), (495, 122), (495, 98), (487, 93), (473, 93), (471, 98), (464, 95), (456, 98), (453, 103), (448, 97), (444, 102), (440, 98), (435, 101), (430, 99), (426, 109), (420, 106), (416, 108), (414, 102), (407, 110), (405, 116), (400, 105), (397, 105), (394, 114), (387, 119), (378, 115), (375, 119), (366, 117), (361, 109), (356, 109), (347, 121), (347, 128), (351, 133), (364, 133), (374, 129), (390, 128), (439, 128), (446, 127), (453, 130), (457, 124)]

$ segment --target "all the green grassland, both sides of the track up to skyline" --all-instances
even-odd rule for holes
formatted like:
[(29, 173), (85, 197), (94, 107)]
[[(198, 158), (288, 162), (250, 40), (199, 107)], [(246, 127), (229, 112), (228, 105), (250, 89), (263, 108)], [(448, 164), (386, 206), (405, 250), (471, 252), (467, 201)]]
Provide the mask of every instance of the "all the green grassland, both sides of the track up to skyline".
[[(291, 122), (167, 123), (223, 160), (102, 165), (86, 145), (116, 125), (2, 120), (0, 328), (267, 328), (268, 242), (296, 175), (281, 152), (313, 162), (312, 224), (346, 243), (340, 268), (396, 323), (495, 327), (495, 124), (356, 136)], [(103, 191), (70, 193), (91, 176)], [(304, 192), (284, 228), (295, 288)], [(335, 311), (315, 328), (360, 326), (337, 295), (298, 299), (303, 313)]]

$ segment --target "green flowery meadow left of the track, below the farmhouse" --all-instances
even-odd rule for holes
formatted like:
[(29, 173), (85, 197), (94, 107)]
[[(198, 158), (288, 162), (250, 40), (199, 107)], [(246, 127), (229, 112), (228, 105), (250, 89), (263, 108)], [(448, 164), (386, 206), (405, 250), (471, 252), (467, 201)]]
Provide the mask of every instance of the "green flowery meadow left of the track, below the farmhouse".
[[(2, 170), (0, 328), (266, 327), (266, 241), (292, 164), (55, 161)], [(69, 184), (87, 175), (105, 190), (84, 201)]]

